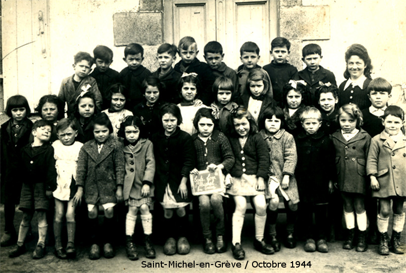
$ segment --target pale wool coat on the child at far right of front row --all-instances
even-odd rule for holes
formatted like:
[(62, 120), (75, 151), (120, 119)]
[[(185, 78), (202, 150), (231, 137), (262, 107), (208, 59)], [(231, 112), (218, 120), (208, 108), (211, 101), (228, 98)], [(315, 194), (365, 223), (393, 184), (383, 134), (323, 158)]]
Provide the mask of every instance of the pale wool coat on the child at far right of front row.
[(406, 137), (394, 142), (383, 131), (371, 140), (366, 174), (376, 176), (379, 190), (372, 191), (372, 197), (406, 196)]

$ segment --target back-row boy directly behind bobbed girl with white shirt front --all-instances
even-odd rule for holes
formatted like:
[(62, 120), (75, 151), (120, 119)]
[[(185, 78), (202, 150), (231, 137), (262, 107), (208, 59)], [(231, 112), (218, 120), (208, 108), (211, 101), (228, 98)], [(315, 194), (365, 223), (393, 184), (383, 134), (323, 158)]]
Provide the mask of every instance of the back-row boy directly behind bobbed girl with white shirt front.
[[(258, 65), (259, 61), (259, 47), (254, 42), (245, 42), (240, 48), (240, 60), (243, 63), (237, 68), (237, 78), (238, 78), (238, 91), (237, 94), (242, 96), (243, 94), (247, 93), (250, 94), (250, 91), (247, 90), (247, 78), (250, 71), (254, 68), (261, 69), (261, 66)], [(264, 72), (266, 72), (264, 70)], [(271, 80), (269, 78), (268, 72), (265, 73), (268, 77), (269, 82)], [(272, 85), (272, 83), (271, 83)], [(273, 98), (273, 89), (270, 86), (269, 91), (267, 93), (268, 97)]]

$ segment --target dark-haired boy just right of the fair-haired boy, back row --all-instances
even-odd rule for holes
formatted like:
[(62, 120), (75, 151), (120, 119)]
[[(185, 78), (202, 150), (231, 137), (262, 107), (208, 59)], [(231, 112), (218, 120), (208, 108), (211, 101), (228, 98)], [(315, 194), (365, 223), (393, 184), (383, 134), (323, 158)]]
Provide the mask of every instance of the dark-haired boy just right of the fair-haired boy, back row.
[(208, 42), (203, 49), (204, 59), (210, 66), (213, 75), (217, 78), (224, 76), (230, 78), (235, 88), (238, 87), (237, 73), (234, 69), (228, 67), (224, 62), (223, 47), (219, 42), (211, 41)]

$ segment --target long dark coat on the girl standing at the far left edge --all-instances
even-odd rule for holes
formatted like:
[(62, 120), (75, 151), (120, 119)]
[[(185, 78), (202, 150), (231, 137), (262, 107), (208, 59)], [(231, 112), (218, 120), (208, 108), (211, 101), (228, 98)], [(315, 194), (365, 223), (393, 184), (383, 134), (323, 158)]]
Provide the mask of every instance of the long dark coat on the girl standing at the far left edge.
[[(13, 119), (10, 118), (0, 127), (0, 175), (1, 175), (1, 204), (18, 204), (22, 186), (19, 171), (21, 148), (28, 144), (33, 123), (24, 118), (17, 136), (12, 136), (11, 127)], [(16, 126), (16, 125), (14, 125)], [(13, 137), (18, 138), (14, 143)]]

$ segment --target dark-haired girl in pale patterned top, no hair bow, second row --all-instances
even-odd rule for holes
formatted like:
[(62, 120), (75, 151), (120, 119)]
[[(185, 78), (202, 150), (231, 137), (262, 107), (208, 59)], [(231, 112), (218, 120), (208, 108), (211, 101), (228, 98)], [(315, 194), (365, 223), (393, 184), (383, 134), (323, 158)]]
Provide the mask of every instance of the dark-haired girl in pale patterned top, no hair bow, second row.
[(107, 93), (110, 108), (102, 110), (101, 112), (105, 113), (110, 119), (111, 125), (113, 126), (112, 137), (117, 140), (117, 132), (120, 129), (121, 122), (124, 121), (126, 116), (133, 115), (133, 113), (124, 109), (127, 97), (124, 85), (120, 83), (113, 84), (108, 88)]

